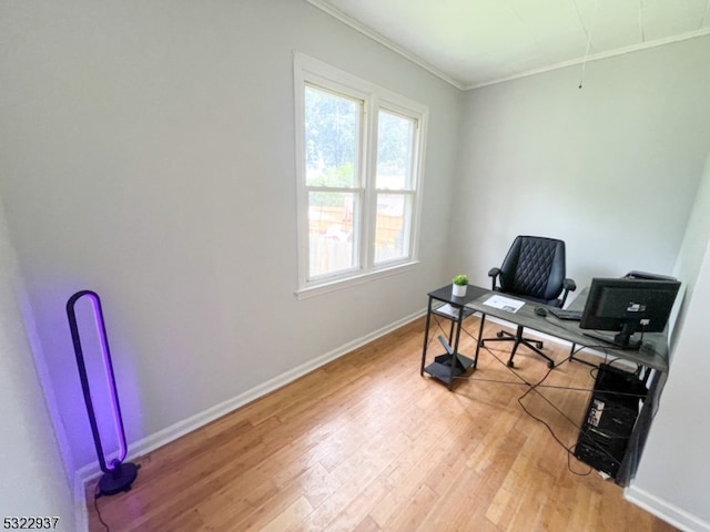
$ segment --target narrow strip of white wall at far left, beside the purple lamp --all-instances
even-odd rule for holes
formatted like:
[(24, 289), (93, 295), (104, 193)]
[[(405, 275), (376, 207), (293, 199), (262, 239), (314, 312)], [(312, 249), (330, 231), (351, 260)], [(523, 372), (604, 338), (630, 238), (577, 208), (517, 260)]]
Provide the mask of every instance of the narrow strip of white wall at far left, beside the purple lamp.
[(0, 207), (0, 515), (59, 516), (57, 530), (74, 531), (72, 490), (21, 319), (24, 298)]

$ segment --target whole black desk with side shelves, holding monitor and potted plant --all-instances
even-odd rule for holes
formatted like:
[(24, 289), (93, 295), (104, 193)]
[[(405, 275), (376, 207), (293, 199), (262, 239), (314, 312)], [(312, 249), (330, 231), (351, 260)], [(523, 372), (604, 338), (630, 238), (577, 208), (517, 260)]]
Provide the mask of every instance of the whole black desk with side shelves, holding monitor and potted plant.
[[(643, 446), (646, 443), (646, 438), (648, 436), (648, 430), (653, 418), (653, 412), (658, 408), (660, 392), (662, 390), (663, 383), (666, 382), (668, 374), (668, 337), (666, 336), (666, 334), (647, 334), (645, 336), (643, 346), (639, 350), (618, 349), (611, 345), (601, 345), (601, 341), (586, 336), (582, 329), (579, 328), (579, 321), (561, 320), (556, 318), (551, 314), (548, 314), (546, 317), (536, 315), (534, 309), (536, 306), (538, 306), (537, 304), (525, 301), (525, 305), (523, 305), (523, 307), (520, 307), (517, 313), (510, 313), (508, 310), (503, 310), (486, 305), (485, 301), (494, 294), (500, 295), (498, 293), (494, 293), (488, 289), (479, 288), (471, 285), (468, 286), (468, 291), (466, 294), (466, 297), (464, 298), (456, 298), (452, 296), (450, 286), (445, 286), (428, 294), (429, 303), (426, 318), (426, 332), (424, 335), (420, 375), (424, 375), (424, 372), (426, 371), (433, 377), (436, 377), (437, 379), (446, 382), (450, 390), (453, 381), (456, 377), (458, 377), (458, 375), (470, 369), (471, 367), (475, 369), (478, 361), (480, 338), (486, 320), (486, 315), (509, 321), (516, 326), (521, 325), (528, 329), (537, 330), (539, 332), (567, 340), (572, 344), (572, 348), (575, 345), (588, 347), (598, 351), (602, 351), (610, 358), (619, 358), (638, 365), (639, 368), (641, 368), (641, 372), (643, 375), (643, 383), (646, 385), (648, 391), (646, 399), (642, 402), (642, 407), (638, 413), (631, 436), (629, 438), (623, 459), (621, 460), (621, 464), (615, 477), (615, 481), (617, 484), (627, 485), (636, 474), (636, 469), (641, 457)], [(584, 307), (585, 295), (586, 291), (582, 290), (580, 296), (575, 301), (572, 301), (570, 308)], [(506, 295), (505, 297), (510, 296)], [(435, 366), (437, 364), (435, 361), (433, 365), (425, 367), (425, 358), (429, 337), (429, 320), (433, 313), (437, 314), (437, 308), (433, 308), (433, 304), (435, 301), (449, 304), (455, 308), (460, 308), (462, 311), (456, 318), (449, 318), (452, 319), (449, 342), (454, 342), (453, 355), (449, 356), (452, 364), (444, 364), (443, 367), (440, 367)], [(476, 354), (473, 360), (464, 357), (465, 369), (462, 370), (460, 367), (457, 369), (455, 367), (456, 364), (454, 362), (456, 362), (456, 359), (459, 357), (458, 338), (460, 334), (462, 321), (466, 317), (471, 316), (475, 313), (479, 313), (481, 315), (478, 331), (478, 341), (476, 342)], [(571, 357), (571, 354), (572, 351), (570, 351), (570, 360), (575, 360)]]

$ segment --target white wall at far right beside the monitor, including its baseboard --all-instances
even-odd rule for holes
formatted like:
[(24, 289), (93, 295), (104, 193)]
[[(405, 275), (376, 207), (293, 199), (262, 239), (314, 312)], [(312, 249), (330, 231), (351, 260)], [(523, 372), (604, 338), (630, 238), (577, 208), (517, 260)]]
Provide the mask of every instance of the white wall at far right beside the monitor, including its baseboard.
[(682, 530), (710, 531), (708, 441), (710, 441), (710, 155), (679, 256), (679, 278), (689, 301), (673, 364), (653, 420), (637, 478), (627, 497)]

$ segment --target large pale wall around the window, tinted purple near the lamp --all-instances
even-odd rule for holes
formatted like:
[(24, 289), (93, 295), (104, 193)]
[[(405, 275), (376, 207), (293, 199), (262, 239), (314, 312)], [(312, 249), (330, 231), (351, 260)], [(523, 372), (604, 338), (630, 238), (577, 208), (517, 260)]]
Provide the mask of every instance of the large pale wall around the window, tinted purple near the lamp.
[[(305, 1), (6, 1), (0, 50), (0, 197), (77, 467), (95, 453), (74, 291), (102, 298), (136, 442), (413, 316), (449, 275), (462, 94)], [(307, 300), (294, 51), (432, 116), (420, 264)]]

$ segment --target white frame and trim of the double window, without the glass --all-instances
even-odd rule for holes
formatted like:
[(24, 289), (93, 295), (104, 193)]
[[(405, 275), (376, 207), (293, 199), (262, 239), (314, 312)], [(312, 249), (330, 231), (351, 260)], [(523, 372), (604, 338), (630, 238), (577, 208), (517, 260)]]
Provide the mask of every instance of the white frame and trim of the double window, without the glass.
[[(316, 279), (308, 278), (308, 187), (306, 186), (305, 163), (305, 86), (312, 85), (326, 91), (352, 96), (364, 102), (359, 168), (361, 186), (364, 188), (364, 205), (359, 231), (362, 233), (359, 264), (356, 268), (339, 272)], [(387, 89), (369, 83), (342, 70), (331, 66), (308, 55), (294, 55), (295, 125), (296, 125), (296, 175), (297, 175), (297, 233), (298, 233), (298, 298), (312, 297), (354, 284), (394, 275), (412, 269), (418, 264), (419, 218), (422, 211), (422, 184), (428, 108)], [(377, 113), (379, 110), (412, 117), (416, 121), (414, 145), (414, 172), (410, 191), (377, 190), (375, 174), (377, 164)], [(412, 218), (408, 256), (387, 263), (374, 264), (374, 246), (377, 193), (405, 193), (412, 198)]]

